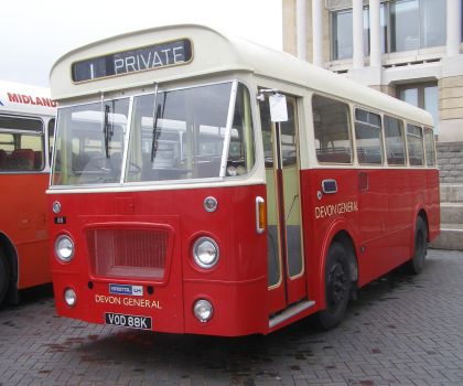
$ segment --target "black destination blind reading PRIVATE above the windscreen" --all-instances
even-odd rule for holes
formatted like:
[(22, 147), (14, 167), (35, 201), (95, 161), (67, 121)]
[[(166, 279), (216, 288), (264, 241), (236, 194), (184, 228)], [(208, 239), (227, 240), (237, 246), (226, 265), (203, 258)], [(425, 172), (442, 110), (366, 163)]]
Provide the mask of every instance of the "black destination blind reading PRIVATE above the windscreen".
[(186, 64), (192, 57), (191, 41), (180, 39), (75, 62), (72, 65), (72, 77), (75, 83), (94, 81)]

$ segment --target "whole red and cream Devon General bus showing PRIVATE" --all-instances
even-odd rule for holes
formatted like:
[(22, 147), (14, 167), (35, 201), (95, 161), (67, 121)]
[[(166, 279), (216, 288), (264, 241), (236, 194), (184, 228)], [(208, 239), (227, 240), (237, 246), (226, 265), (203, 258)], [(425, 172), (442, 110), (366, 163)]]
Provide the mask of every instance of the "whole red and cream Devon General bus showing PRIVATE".
[(60, 58), (49, 193), (60, 315), (267, 334), (400, 265), (439, 233), (431, 116), (203, 26)]

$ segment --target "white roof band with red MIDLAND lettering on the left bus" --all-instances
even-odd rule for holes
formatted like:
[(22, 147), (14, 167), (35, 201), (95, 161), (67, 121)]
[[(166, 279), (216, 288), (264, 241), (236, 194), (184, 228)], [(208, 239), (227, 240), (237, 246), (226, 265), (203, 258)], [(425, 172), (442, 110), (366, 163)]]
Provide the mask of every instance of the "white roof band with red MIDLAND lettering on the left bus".
[(56, 103), (46, 87), (0, 81), (0, 114), (55, 116)]

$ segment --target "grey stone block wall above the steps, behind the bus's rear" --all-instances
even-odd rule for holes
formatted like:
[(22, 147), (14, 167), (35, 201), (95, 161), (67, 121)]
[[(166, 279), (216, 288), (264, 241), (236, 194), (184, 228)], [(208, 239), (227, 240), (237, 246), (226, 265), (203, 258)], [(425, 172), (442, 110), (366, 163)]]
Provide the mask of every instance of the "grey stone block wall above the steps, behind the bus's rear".
[(463, 142), (438, 143), (441, 183), (463, 183)]

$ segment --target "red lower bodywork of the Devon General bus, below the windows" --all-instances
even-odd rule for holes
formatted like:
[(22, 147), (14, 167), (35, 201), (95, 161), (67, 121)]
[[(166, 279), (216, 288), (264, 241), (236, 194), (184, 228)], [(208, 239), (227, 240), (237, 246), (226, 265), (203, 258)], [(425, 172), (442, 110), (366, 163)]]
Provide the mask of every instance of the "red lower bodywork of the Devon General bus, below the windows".
[[(430, 217), (430, 237), (439, 226), (439, 185), (437, 171), (390, 171), (370, 183), (375, 187), (367, 194), (358, 192), (355, 181), (362, 171), (306, 170), (300, 174), (303, 207), (304, 245), (308, 269), (308, 294), (316, 307), (305, 314), (289, 319), (287, 325), (324, 307), (323, 277), (324, 261), (332, 238), (340, 230), (348, 232), (354, 238), (358, 256), (359, 286), (403, 262), (412, 255), (413, 218), (420, 211)], [(368, 172), (368, 171), (367, 171)], [(356, 202), (362, 210), (340, 216), (314, 215), (317, 206), (316, 191), (326, 175), (335, 178), (345, 187), (342, 196), (334, 197), (327, 205)], [(386, 183), (386, 181), (396, 181)], [(403, 183), (407, 182), (407, 187)], [(423, 189), (423, 186), (429, 186)], [(105, 312), (133, 314), (133, 305), (114, 303), (108, 293), (108, 285), (119, 283), (153, 286), (153, 294), (146, 294), (137, 314), (152, 317), (153, 330), (173, 333), (197, 333), (209, 335), (267, 334), (269, 328), (269, 303), (267, 291), (266, 239), (255, 232), (254, 197), (265, 196), (266, 186), (243, 186), (224, 189), (197, 189), (160, 192), (101, 193), (101, 194), (53, 194), (49, 196), (49, 207), (60, 201), (66, 213), (66, 225), (52, 226), (54, 239), (63, 229), (72, 228), (76, 251), (82, 258), (78, 264), (63, 267), (52, 258), (52, 271), (56, 296), (56, 308), (63, 317), (103, 323)], [(207, 213), (203, 208), (206, 196), (214, 195), (220, 208)], [(400, 200), (398, 200), (400, 196)], [(396, 199), (396, 203), (394, 200)], [(383, 200), (384, 205), (378, 205)], [(397, 205), (399, 202), (399, 207)], [(182, 203), (179, 205), (179, 203)], [(236, 207), (240, 207), (238, 213)], [(365, 216), (363, 216), (363, 213)], [(147, 215), (151, 213), (152, 215)], [(165, 259), (166, 275), (160, 282), (134, 279), (97, 278), (91, 272), (86, 248), (85, 232), (94, 225), (105, 224), (111, 228), (128, 226), (166, 227), (169, 232), (169, 256)], [(368, 232), (363, 230), (368, 229)], [(192, 262), (191, 249), (197, 234), (213, 235), (226, 257), (213, 274), (204, 275)], [(365, 251), (362, 251), (362, 248)], [(396, 258), (396, 259), (394, 259)], [(94, 287), (88, 288), (88, 282)], [(72, 286), (78, 296), (79, 307), (72, 309), (64, 303), (64, 289)], [(192, 303), (198, 297), (206, 297), (215, 304), (215, 315), (211, 324), (200, 323), (192, 313)], [(112, 296), (112, 298), (115, 298)], [(126, 298), (129, 299), (129, 298)], [(128, 302), (129, 304), (129, 302)]]

